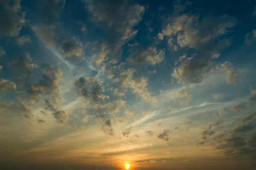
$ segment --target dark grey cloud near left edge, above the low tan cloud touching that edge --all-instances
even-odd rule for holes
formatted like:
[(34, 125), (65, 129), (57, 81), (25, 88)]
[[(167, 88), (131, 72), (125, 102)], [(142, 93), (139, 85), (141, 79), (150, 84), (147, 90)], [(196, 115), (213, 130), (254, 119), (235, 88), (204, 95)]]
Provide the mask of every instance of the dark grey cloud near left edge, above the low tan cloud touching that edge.
[(36, 64), (32, 63), (32, 58), (27, 52), (19, 54), (9, 65), (12, 71), (15, 72), (31, 71), (33, 68), (37, 67)]

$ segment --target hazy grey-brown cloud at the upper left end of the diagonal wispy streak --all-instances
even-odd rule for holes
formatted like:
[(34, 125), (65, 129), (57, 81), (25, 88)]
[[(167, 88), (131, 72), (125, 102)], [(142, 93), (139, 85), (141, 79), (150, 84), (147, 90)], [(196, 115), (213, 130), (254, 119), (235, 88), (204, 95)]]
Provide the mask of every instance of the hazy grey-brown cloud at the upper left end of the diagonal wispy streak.
[(56, 44), (56, 26), (55, 25), (33, 25), (33, 31), (38, 38), (47, 44), (49, 47), (53, 47)]

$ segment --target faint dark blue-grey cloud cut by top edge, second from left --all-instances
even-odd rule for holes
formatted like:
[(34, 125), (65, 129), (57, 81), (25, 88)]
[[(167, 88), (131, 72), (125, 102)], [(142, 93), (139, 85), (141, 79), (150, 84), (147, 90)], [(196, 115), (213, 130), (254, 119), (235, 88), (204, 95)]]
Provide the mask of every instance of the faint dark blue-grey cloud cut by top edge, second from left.
[(43, 0), (36, 2), (38, 17), (44, 23), (53, 23), (65, 7), (66, 0)]

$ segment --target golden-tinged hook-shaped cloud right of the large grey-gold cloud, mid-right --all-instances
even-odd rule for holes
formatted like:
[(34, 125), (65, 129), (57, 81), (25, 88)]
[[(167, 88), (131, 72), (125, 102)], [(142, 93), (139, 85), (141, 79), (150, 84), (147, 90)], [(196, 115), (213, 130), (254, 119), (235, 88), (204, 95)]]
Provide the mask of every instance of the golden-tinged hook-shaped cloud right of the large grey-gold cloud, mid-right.
[(230, 62), (224, 62), (221, 64), (218, 64), (216, 66), (216, 69), (225, 71), (227, 76), (226, 76), (226, 82), (227, 84), (231, 84), (236, 82), (237, 80), (237, 68), (234, 68), (233, 65)]

